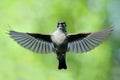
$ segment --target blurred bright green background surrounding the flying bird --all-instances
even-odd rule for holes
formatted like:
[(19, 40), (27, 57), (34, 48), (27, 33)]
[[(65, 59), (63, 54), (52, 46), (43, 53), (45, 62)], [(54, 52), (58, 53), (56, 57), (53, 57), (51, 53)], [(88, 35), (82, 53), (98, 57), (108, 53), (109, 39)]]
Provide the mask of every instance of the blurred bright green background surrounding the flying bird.
[[(114, 26), (99, 47), (86, 54), (67, 53), (67, 70), (57, 69), (55, 54), (33, 54), (6, 32), (51, 34), (57, 22), (68, 33)], [(120, 80), (120, 0), (1, 0), (0, 80)]]

